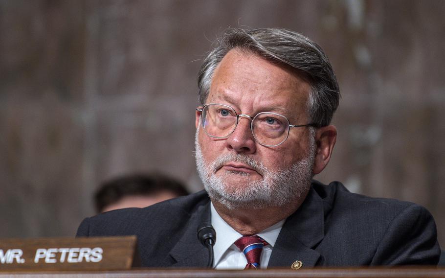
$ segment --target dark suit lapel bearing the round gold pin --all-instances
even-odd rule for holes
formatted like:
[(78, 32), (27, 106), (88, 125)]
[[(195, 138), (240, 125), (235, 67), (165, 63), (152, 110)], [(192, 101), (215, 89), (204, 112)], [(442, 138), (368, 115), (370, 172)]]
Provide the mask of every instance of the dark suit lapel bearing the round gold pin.
[(324, 237), (323, 200), (311, 187), (299, 209), (288, 217), (272, 249), (268, 267), (290, 267), (299, 260), (313, 267), (320, 254), (312, 248)]

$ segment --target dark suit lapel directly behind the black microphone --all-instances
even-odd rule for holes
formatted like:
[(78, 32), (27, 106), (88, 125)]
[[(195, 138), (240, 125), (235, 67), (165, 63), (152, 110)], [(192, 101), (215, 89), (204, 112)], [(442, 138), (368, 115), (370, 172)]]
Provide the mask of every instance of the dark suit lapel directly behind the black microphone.
[(209, 254), (198, 239), (197, 229), (202, 222), (211, 223), (210, 201), (201, 206), (187, 223), (184, 234), (170, 251), (170, 256), (176, 261), (174, 267), (206, 267)]

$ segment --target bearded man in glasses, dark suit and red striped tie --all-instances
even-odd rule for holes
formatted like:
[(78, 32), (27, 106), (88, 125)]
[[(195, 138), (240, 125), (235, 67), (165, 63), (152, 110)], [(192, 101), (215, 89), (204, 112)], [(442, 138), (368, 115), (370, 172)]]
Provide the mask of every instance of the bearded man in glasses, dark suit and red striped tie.
[(228, 29), (199, 74), (196, 162), (205, 191), (87, 218), (78, 236), (138, 236), (143, 266), (437, 264), (421, 206), (311, 181), (328, 164), (339, 89), (323, 50), (286, 29)]

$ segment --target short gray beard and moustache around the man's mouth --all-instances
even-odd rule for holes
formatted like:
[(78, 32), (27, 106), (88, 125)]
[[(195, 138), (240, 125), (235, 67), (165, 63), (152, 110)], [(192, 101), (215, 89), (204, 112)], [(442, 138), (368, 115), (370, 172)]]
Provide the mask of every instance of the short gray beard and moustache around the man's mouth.
[[(311, 134), (308, 155), (289, 168), (271, 171), (262, 162), (255, 161), (245, 154), (226, 154), (214, 162), (204, 161), (198, 141), (199, 129), (195, 135), (196, 165), (198, 174), (210, 199), (224, 205), (227, 209), (251, 208), (264, 209), (283, 207), (291, 202), (301, 202), (311, 185), (312, 168), (315, 158), (315, 142)], [(225, 162), (242, 162), (263, 176), (261, 181), (248, 181), (245, 185), (228, 185), (225, 177), (229, 175), (249, 176), (247, 173), (226, 172), (215, 176)]]

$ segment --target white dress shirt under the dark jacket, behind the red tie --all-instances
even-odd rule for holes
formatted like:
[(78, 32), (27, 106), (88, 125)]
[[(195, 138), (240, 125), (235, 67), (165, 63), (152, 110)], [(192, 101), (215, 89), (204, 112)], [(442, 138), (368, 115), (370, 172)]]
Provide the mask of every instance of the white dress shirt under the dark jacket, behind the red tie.
[[(210, 207), (212, 226), (216, 231), (216, 242), (213, 247), (213, 267), (215, 269), (244, 269), (247, 260), (244, 253), (234, 244), (234, 242), (243, 235), (233, 230), (233, 228), (221, 218), (213, 204), (211, 204)], [(272, 254), (272, 248), (277, 241), (278, 234), (285, 220), (286, 219), (258, 233), (258, 235), (268, 243), (263, 247), (263, 252), (261, 253), (260, 268), (267, 268), (270, 255)]]

